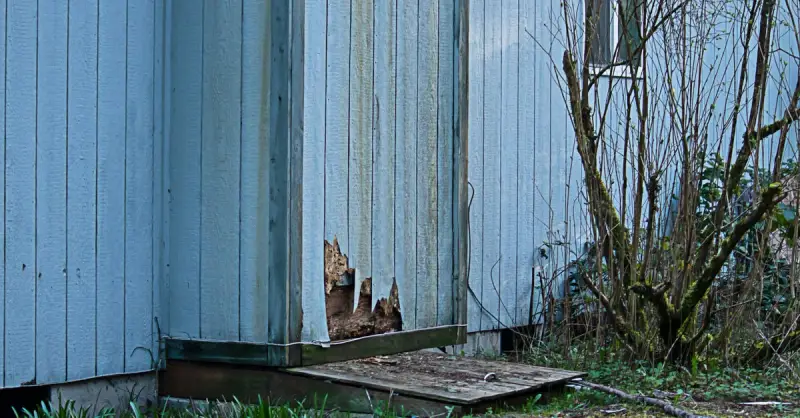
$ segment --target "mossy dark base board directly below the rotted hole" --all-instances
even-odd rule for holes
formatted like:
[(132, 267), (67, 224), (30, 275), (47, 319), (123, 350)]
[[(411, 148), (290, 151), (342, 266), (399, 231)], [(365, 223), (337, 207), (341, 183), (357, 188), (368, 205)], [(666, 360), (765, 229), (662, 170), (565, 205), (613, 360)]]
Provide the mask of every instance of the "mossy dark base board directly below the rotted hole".
[(426, 348), (444, 347), (459, 343), (461, 334), (466, 340), (466, 326), (450, 325), (436, 328), (399, 331), (331, 343), (330, 347), (304, 344), (301, 364), (335, 363), (365, 357), (399, 354)]

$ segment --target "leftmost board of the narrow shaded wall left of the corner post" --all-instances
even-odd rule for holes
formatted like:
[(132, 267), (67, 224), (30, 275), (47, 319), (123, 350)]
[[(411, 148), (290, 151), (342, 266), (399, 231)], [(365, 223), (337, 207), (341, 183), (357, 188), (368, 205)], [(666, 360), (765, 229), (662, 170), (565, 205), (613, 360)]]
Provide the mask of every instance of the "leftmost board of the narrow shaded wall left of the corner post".
[(200, 196), (205, 3), (173, 3), (170, 335), (200, 337)]

